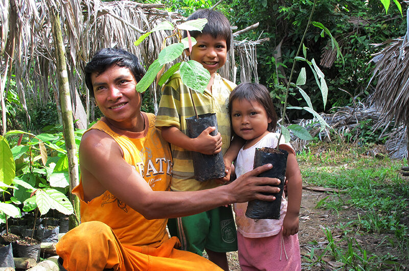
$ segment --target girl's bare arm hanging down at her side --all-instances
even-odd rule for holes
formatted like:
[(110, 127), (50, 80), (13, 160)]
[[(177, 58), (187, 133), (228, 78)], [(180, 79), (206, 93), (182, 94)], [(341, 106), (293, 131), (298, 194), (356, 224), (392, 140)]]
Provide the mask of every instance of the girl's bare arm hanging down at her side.
[(280, 148), (288, 151), (287, 170), (285, 177), (287, 183), (287, 213), (283, 222), (283, 235), (294, 235), (298, 233), (299, 214), (301, 206), (301, 195), (303, 190), (300, 168), (298, 166), (296, 154), (288, 145), (280, 145)]

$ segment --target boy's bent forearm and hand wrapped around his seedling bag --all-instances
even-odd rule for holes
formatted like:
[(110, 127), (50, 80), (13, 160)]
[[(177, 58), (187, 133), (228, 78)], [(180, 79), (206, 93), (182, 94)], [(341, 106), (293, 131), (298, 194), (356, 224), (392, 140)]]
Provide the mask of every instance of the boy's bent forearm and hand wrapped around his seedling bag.
[(203, 154), (216, 154), (221, 151), (221, 135), (211, 135), (216, 127), (208, 127), (197, 138), (191, 139), (175, 126), (163, 126), (162, 137), (169, 143), (190, 151)]

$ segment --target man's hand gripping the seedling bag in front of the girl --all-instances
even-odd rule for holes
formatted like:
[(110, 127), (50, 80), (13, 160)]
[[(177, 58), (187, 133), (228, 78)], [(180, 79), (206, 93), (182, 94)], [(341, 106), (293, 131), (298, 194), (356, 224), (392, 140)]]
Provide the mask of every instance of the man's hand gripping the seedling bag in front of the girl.
[(271, 169), (271, 164), (266, 164), (255, 168), (252, 171), (238, 177), (234, 182), (228, 185), (229, 191), (234, 196), (233, 202), (246, 202), (253, 199), (273, 201), (276, 199), (272, 195), (264, 195), (262, 193), (278, 193), (280, 188), (272, 187), (272, 185), (280, 184), (278, 178), (257, 177), (260, 173)]

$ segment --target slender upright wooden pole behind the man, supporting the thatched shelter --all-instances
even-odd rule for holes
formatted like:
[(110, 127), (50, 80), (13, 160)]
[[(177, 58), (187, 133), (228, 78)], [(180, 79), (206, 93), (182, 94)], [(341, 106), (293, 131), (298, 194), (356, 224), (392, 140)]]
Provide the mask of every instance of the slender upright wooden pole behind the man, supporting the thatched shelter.
[(78, 185), (77, 146), (75, 144), (74, 137), (73, 109), (71, 105), (70, 85), (68, 83), (66, 69), (65, 48), (61, 34), (60, 16), (55, 9), (53, 9), (51, 16), (53, 17), (52, 18), (53, 37), (55, 47), (55, 59), (57, 62), (56, 66), (62, 114), (63, 135), (65, 139), (65, 148), (67, 150), (69, 162), (70, 200), (74, 207), (74, 214), (70, 215), (69, 229), (73, 229), (79, 224), (80, 221), (79, 199), (77, 196), (71, 193), (72, 189)]

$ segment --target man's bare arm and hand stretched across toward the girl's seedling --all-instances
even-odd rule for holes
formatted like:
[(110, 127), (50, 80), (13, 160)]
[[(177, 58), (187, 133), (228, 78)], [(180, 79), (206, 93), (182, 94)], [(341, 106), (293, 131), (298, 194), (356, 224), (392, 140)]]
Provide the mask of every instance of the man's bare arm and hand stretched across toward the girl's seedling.
[[(80, 145), (81, 173), (84, 197), (90, 200), (108, 190), (118, 199), (147, 219), (180, 217), (200, 213), (232, 202), (255, 198), (274, 200), (262, 193), (277, 193), (278, 179), (256, 177), (270, 167), (264, 165), (248, 172), (229, 185), (192, 192), (152, 191), (143, 177), (122, 157), (119, 145), (101, 131), (88, 131)], [(95, 182), (101, 186), (97, 195)], [(266, 186), (267, 185), (267, 186)]]

